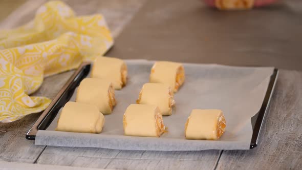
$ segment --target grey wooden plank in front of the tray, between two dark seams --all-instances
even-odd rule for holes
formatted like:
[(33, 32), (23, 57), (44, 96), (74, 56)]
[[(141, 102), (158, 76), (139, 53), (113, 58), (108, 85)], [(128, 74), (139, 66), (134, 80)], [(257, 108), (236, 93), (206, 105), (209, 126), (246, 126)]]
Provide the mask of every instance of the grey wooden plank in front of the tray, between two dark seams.
[(119, 151), (47, 146), (37, 163), (113, 169), (213, 169), (220, 152)]

